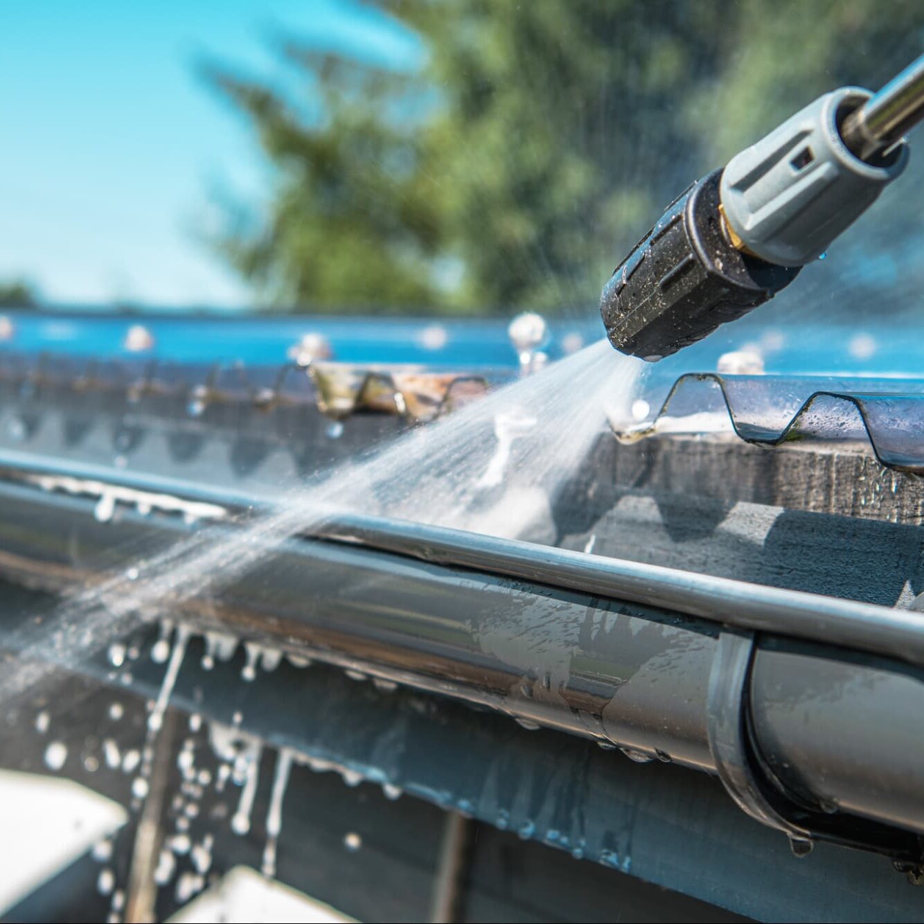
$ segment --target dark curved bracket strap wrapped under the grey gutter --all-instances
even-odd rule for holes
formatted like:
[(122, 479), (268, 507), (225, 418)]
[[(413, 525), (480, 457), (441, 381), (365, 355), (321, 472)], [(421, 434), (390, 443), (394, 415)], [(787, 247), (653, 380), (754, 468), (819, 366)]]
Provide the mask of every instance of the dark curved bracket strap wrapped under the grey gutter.
[(756, 649), (755, 633), (723, 626), (709, 678), (707, 732), (725, 791), (751, 818), (786, 834), (796, 857), (826, 841), (884, 854), (910, 881), (921, 881), (924, 842), (917, 834), (808, 804), (761, 760), (750, 709)]

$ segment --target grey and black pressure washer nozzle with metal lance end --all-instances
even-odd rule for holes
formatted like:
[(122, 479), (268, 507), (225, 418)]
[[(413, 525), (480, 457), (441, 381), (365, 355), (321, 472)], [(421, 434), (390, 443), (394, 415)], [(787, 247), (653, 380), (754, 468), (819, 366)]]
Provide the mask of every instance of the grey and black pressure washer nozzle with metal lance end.
[(788, 286), (904, 171), (924, 118), (924, 55), (876, 94), (826, 93), (692, 184), (614, 270), (616, 349), (656, 361)]

